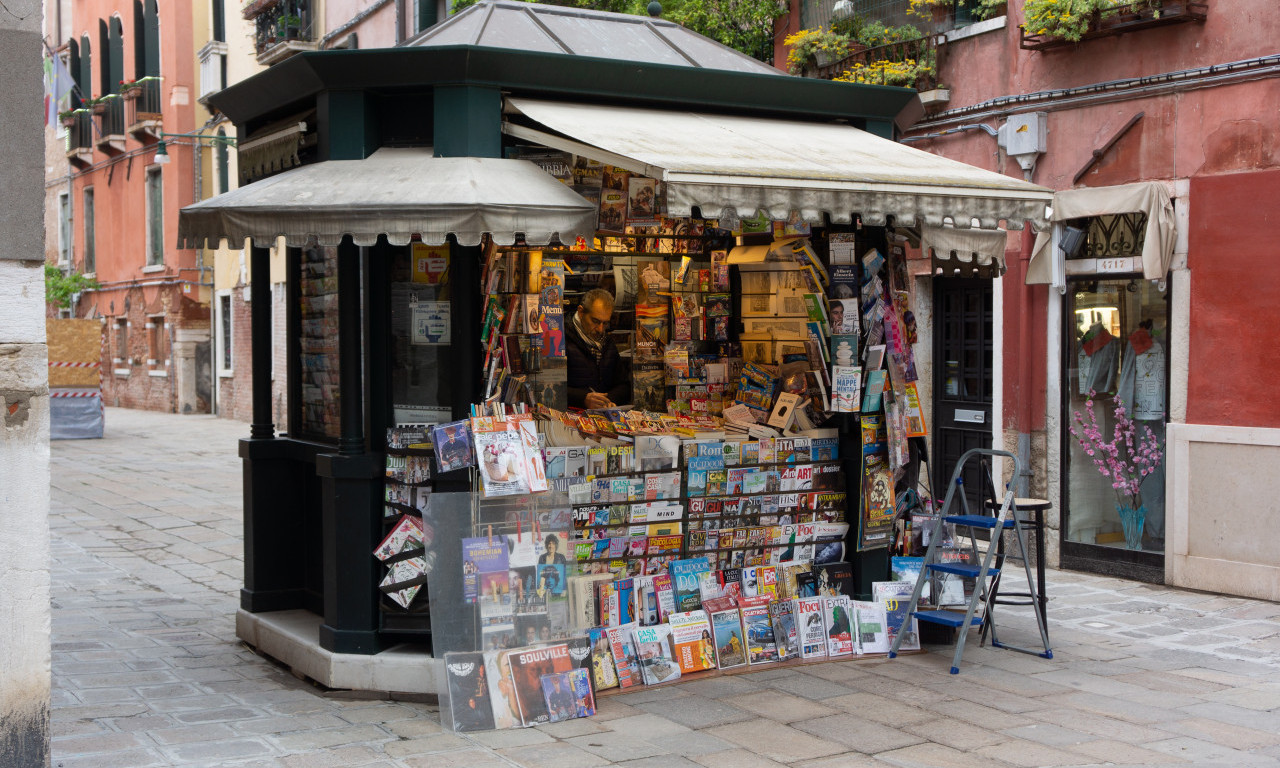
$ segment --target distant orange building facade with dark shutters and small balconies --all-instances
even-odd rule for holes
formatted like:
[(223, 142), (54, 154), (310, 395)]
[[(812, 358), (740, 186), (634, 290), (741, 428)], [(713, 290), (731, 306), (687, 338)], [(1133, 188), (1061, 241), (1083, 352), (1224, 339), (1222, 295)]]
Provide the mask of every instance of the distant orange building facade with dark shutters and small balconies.
[(70, 314), (102, 321), (105, 402), (207, 412), (209, 270), (173, 246), (178, 209), (200, 195), (204, 146), (186, 134), (207, 119), (192, 5), (70, 1), (56, 14), (46, 44), (74, 79), (50, 128), (65, 132), (68, 165), (47, 172), (58, 261), (101, 284)]

